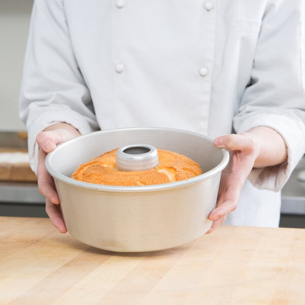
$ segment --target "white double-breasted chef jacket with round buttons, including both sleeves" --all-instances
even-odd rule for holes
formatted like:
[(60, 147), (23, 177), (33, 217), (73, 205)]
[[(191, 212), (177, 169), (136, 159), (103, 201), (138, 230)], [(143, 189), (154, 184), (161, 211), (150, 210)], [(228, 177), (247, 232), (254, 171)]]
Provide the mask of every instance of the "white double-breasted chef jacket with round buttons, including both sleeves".
[(288, 162), (253, 169), (226, 223), (278, 226), (280, 190), (305, 152), (302, 3), (36, 0), (20, 92), (32, 168), (36, 135), (58, 121), (82, 134), (169, 127), (213, 138), (268, 126)]

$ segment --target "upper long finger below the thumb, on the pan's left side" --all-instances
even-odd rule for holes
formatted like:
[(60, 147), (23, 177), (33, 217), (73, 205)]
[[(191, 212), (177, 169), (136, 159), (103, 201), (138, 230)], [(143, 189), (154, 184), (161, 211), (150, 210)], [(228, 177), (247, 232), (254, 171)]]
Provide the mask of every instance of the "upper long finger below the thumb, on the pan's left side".
[(59, 198), (55, 189), (54, 181), (45, 168), (45, 163), (44, 163), (45, 157), (46, 157), (46, 153), (42, 149), (39, 149), (38, 151), (39, 161), (37, 168), (38, 190), (51, 202), (58, 204)]

